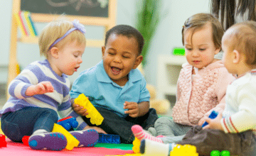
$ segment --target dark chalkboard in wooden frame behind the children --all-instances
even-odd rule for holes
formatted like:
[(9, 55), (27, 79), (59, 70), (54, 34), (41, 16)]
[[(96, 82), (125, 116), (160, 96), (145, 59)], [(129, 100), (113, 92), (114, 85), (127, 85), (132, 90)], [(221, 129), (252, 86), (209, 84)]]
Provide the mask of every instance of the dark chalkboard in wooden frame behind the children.
[(109, 17), (108, 0), (21, 0), (21, 11), (70, 16)]

